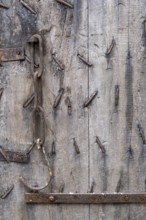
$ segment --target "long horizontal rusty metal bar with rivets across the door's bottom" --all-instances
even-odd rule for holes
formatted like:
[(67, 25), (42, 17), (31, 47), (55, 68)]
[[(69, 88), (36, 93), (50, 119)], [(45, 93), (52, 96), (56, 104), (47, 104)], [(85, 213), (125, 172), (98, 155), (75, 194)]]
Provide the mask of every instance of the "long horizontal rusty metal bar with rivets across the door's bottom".
[(114, 204), (146, 203), (146, 193), (25, 193), (25, 202), (30, 204)]

